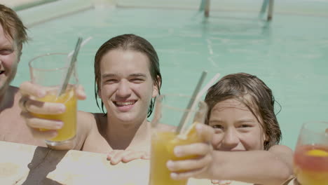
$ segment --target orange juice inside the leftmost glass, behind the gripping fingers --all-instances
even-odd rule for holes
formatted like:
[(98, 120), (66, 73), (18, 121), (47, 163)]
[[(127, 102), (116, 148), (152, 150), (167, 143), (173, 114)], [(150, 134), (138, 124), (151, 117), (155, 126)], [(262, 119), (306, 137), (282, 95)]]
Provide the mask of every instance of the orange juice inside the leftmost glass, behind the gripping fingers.
[[(50, 142), (64, 142), (72, 139), (76, 135), (76, 96), (74, 88), (68, 88), (65, 93), (57, 97), (56, 91), (50, 91), (45, 97), (38, 99), (41, 102), (55, 102), (62, 103), (66, 109), (63, 114), (34, 114), (39, 118), (45, 118), (50, 120), (62, 121), (64, 125), (61, 129), (57, 130), (58, 135), (52, 139), (48, 139)], [(45, 130), (42, 129), (41, 130)]]

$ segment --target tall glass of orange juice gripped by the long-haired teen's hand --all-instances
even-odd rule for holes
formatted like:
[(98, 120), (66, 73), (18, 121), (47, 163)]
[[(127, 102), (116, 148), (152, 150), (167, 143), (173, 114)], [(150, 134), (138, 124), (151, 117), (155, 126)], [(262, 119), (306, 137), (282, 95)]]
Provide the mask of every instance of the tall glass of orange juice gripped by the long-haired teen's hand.
[[(43, 86), (47, 90), (45, 97), (35, 99), (41, 102), (62, 103), (66, 107), (63, 114), (34, 114), (38, 118), (62, 121), (64, 123), (62, 128), (57, 130), (56, 137), (46, 140), (46, 144), (50, 146), (71, 142), (71, 139), (74, 139), (76, 135), (77, 99), (75, 87), (78, 79), (75, 68), (69, 78), (66, 90), (59, 95), (60, 88), (67, 74), (67, 69), (69, 68), (70, 60), (66, 53), (48, 53), (34, 57), (29, 61), (32, 83)], [(44, 128), (39, 129), (41, 131), (46, 130)]]

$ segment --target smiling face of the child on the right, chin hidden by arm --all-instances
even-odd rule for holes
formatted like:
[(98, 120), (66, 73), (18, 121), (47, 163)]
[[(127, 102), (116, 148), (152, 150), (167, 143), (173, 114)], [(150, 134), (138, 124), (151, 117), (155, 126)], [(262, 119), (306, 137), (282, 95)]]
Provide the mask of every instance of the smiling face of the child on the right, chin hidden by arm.
[[(254, 111), (256, 114), (256, 112)], [(261, 118), (255, 117), (245, 104), (228, 99), (215, 104), (209, 125), (215, 130), (212, 145), (219, 151), (264, 150), (266, 136)]]

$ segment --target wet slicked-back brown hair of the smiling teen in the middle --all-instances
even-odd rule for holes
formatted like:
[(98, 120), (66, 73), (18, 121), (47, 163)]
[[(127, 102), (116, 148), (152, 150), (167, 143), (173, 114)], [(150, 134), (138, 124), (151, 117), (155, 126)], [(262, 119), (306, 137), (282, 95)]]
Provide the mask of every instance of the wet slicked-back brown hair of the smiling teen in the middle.
[[(109, 39), (100, 46), (95, 55), (95, 98), (97, 102), (98, 90), (100, 89), (100, 61), (102, 57), (108, 53), (110, 50), (121, 49), (121, 50), (134, 50), (146, 55), (149, 59), (149, 71), (153, 83), (158, 88), (158, 93), (160, 94), (160, 86), (162, 84), (162, 76), (160, 74), (159, 60), (156, 50), (153, 48), (151, 43), (141, 36), (135, 34), (123, 34), (115, 36)], [(155, 99), (151, 99), (149, 105), (147, 117), (151, 116), (153, 112), (153, 106), (155, 104)], [(97, 107), (99, 104), (97, 102)], [(104, 102), (102, 102), (102, 112), (104, 112)], [(106, 114), (105, 114), (106, 116)]]

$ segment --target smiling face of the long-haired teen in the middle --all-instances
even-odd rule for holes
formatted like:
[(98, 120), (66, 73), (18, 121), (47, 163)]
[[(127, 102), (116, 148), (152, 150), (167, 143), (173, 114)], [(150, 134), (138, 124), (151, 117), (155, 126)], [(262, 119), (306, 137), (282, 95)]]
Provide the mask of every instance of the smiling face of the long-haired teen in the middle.
[(110, 50), (100, 61), (99, 95), (107, 116), (123, 124), (145, 121), (151, 98), (158, 95), (149, 59), (134, 50)]

